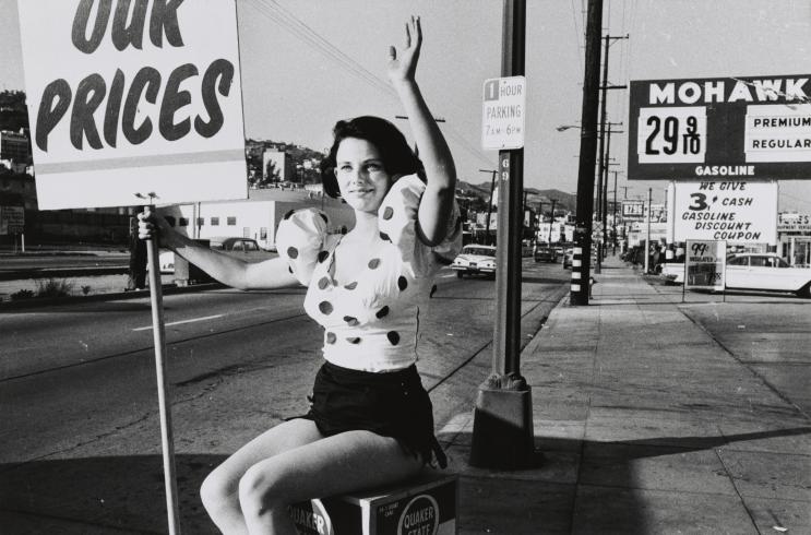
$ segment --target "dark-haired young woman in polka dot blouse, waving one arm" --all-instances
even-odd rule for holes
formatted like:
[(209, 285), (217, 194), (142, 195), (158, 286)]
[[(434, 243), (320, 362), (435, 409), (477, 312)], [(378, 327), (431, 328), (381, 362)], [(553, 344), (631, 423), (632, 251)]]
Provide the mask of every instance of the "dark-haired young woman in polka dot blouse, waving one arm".
[(324, 191), (355, 212), (346, 235), (327, 234), (313, 209), (289, 213), (278, 259), (247, 264), (202, 248), (160, 217), (142, 214), (177, 253), (241, 289), (308, 287), (305, 309), (324, 326), (324, 359), (310, 411), (250, 441), (203, 483), (203, 503), (226, 534), (295, 534), (287, 506), (412, 476), (444, 456), (415, 368), (418, 309), (432, 276), (461, 247), (456, 173), (415, 81), (422, 34), (389, 51), (389, 78), (422, 160), (389, 121), (339, 121), (322, 165)]

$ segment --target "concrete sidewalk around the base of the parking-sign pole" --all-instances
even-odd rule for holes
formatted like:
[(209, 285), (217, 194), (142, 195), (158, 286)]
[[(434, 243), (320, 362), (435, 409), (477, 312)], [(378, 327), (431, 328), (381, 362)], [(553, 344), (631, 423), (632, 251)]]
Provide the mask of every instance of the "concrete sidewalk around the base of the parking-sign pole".
[(473, 414), (439, 433), (460, 533), (811, 533), (811, 420), (619, 260), (522, 354), (534, 469), (467, 465)]

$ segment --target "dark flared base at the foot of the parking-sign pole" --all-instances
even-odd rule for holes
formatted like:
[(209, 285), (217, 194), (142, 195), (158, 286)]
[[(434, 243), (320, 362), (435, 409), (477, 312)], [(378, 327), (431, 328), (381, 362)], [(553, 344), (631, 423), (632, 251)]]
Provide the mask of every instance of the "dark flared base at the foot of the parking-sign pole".
[(476, 396), (470, 466), (521, 469), (537, 466), (542, 455), (533, 443), (532, 390), (491, 389)]

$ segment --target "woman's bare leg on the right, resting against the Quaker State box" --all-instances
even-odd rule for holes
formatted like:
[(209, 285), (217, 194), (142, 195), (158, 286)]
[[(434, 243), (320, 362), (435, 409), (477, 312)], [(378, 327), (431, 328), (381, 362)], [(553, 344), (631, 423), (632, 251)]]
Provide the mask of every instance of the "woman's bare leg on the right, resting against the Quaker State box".
[(239, 482), (239, 503), (250, 535), (296, 535), (290, 503), (394, 483), (422, 465), (393, 438), (347, 431), (259, 461)]

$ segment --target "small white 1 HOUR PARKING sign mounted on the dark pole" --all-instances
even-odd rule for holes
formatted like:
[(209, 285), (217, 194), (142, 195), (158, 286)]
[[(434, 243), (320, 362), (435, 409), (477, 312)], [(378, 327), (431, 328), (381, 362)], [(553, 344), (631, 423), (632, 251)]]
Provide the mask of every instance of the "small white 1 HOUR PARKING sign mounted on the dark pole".
[(486, 151), (524, 147), (526, 79), (485, 81), (481, 104), (481, 146)]

